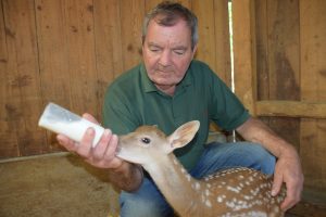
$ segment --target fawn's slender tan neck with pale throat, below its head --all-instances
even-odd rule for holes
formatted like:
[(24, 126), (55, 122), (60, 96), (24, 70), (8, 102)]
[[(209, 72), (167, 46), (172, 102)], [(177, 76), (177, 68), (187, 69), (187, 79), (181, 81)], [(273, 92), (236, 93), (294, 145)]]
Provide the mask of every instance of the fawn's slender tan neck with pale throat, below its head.
[(180, 216), (196, 216), (193, 212), (198, 212), (199, 206), (202, 204), (210, 206), (200, 200), (203, 197), (203, 183), (193, 179), (174, 154), (168, 154), (150, 165), (143, 165), (143, 168)]

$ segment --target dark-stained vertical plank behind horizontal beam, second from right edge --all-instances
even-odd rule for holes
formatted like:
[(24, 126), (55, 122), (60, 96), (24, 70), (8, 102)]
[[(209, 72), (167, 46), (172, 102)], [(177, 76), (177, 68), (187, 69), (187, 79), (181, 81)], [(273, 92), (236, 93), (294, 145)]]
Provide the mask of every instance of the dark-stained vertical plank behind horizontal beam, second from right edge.
[[(268, 85), (268, 100), (300, 100), (299, 0), (267, 0), (263, 7), (266, 7), (266, 23), (263, 27), (266, 30), (259, 33), (266, 34), (261, 38), (268, 52), (265, 56), (266, 73), (268, 73), (268, 84), (265, 85)], [(264, 63), (261, 60), (256, 62)], [(299, 149), (299, 118), (273, 117), (269, 119), (269, 126), (281, 136), (290, 136), (291, 142)]]

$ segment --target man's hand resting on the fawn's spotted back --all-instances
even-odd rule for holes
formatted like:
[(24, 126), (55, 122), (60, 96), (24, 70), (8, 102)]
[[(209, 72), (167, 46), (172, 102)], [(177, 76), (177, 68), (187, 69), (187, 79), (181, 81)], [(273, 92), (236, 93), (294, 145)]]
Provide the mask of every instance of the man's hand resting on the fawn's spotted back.
[(279, 193), (283, 183), (286, 183), (287, 196), (281, 204), (281, 209), (287, 210), (301, 199), (303, 175), (297, 152), (289, 150), (283, 153), (276, 163), (272, 195)]

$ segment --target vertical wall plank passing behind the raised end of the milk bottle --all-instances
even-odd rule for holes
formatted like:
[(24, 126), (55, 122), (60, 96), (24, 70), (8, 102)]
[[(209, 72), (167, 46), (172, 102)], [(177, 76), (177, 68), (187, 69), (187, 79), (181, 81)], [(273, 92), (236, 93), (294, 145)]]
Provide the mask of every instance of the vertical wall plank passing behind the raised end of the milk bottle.
[[(62, 1), (36, 0), (35, 4), (43, 106), (54, 102), (70, 107), (68, 44)], [(47, 146), (50, 152), (62, 150), (54, 133), (48, 130), (43, 132), (47, 135)]]

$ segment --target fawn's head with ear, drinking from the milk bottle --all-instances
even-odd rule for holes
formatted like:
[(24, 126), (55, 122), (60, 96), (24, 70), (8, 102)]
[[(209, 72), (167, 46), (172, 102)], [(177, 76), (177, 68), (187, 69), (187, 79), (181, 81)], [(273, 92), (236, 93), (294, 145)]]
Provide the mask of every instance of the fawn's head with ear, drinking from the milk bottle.
[(118, 138), (117, 156), (135, 164), (150, 163), (188, 144), (199, 126), (198, 120), (188, 122), (168, 137), (156, 126), (141, 126), (134, 132)]

